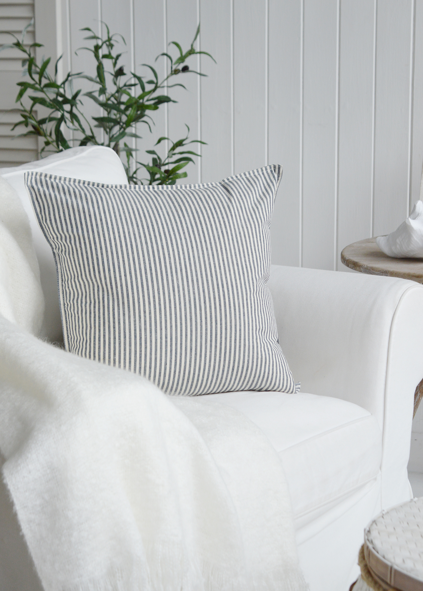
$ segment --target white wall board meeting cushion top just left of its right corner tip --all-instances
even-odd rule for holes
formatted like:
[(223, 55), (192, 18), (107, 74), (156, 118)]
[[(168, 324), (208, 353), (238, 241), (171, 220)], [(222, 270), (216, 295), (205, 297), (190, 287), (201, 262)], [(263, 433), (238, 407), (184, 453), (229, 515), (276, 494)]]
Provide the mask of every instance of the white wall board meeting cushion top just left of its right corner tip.
[(266, 164), (265, 0), (234, 0), (235, 173)]

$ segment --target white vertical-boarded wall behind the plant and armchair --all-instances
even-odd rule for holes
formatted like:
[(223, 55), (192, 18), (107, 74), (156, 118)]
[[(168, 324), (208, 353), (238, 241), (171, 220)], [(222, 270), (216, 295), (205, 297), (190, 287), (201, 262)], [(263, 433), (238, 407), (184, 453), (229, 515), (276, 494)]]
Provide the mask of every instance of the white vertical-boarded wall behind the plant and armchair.
[[(100, 31), (101, 19), (127, 41), (125, 68), (141, 74), (169, 41), (188, 47), (201, 20), (197, 47), (218, 64), (194, 59), (208, 78), (175, 78), (188, 90), (169, 91), (179, 103), (153, 113), (152, 135), (138, 129), (138, 159), (187, 123), (208, 142), (188, 182), (282, 163), (274, 262), (345, 271), (341, 249), (395, 229), (418, 198), (423, 0), (35, 0), (41, 9), (55, 15), (64, 73), (93, 67), (75, 50), (85, 43), (79, 29)], [(164, 75), (164, 60), (156, 65)]]

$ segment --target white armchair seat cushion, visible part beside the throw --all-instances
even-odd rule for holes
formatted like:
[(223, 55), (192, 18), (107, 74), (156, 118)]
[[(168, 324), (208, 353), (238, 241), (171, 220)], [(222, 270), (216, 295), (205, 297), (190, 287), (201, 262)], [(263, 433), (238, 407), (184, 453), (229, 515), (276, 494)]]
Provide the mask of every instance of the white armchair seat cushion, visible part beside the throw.
[(296, 527), (377, 478), (382, 433), (369, 411), (314, 394), (230, 392), (206, 397), (240, 410), (282, 459)]

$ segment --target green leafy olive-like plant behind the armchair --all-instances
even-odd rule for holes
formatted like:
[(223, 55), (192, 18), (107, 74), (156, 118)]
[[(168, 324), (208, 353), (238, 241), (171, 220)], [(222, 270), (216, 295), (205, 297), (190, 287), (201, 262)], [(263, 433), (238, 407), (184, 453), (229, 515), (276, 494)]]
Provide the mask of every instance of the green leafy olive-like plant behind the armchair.
[[(30, 23), (31, 24), (31, 23)], [(28, 25), (29, 27), (30, 25)], [(21, 135), (37, 135), (43, 138), (44, 152), (60, 152), (67, 150), (72, 145), (106, 145), (117, 154), (126, 153), (125, 170), (130, 183), (147, 181), (148, 184), (174, 184), (179, 178), (187, 176), (181, 171), (189, 162), (193, 162), (192, 156), (198, 156), (196, 152), (186, 149), (189, 144), (204, 144), (198, 139), (189, 141), (188, 134), (185, 138), (173, 142), (169, 138), (161, 137), (156, 146), (164, 140), (170, 142), (170, 148), (164, 158), (160, 157), (156, 150), (146, 150), (152, 155), (150, 163), (138, 162), (135, 158), (135, 149), (125, 141), (126, 138), (140, 138), (136, 132), (136, 126), (145, 124), (151, 132), (154, 124), (151, 117), (153, 111), (157, 111), (160, 105), (168, 102), (176, 102), (168, 95), (169, 89), (175, 86), (185, 86), (182, 83), (169, 84), (169, 80), (179, 74), (194, 73), (205, 76), (201, 72), (191, 70), (186, 60), (190, 56), (205, 54), (212, 58), (206, 51), (196, 51), (194, 44), (198, 37), (200, 27), (188, 51), (183, 51), (176, 41), (169, 46), (175, 46), (179, 55), (174, 60), (170, 53), (161, 53), (157, 56), (165, 57), (169, 63), (169, 74), (159, 82), (156, 69), (148, 64), (142, 64), (150, 72), (150, 77), (139, 76), (134, 72), (126, 74), (124, 66), (119, 64), (122, 53), (117, 53), (116, 44), (119, 37), (122, 43), (125, 40), (121, 35), (111, 34), (109, 27), (104, 24), (106, 35), (104, 38), (97, 35), (91, 28), (85, 27), (89, 35), (86, 40), (93, 41), (93, 47), (83, 47), (80, 50), (89, 51), (96, 63), (96, 76), (89, 76), (83, 72), (67, 73), (62, 82), (58, 80), (58, 64), (62, 56), (54, 64), (54, 74), (50, 74), (48, 66), (51, 59), (47, 58), (37, 64), (35, 48), (43, 47), (39, 43), (33, 43), (26, 47), (24, 37), (27, 28), (22, 32), (22, 40), (13, 35), (15, 41), (8, 47), (16, 47), (25, 54), (22, 67), (25, 69), (29, 80), (18, 82), (20, 90), (16, 102), (20, 103), (21, 121), (13, 128), (23, 125), (28, 131)], [(89, 80), (96, 86), (95, 90), (82, 93), (81, 89), (74, 92), (73, 87), (79, 79)], [(32, 93), (31, 93), (32, 91)], [(24, 97), (29, 99), (30, 106), (24, 104)], [(99, 116), (88, 118), (84, 115), (84, 100), (92, 100), (101, 108)], [(38, 117), (39, 107), (47, 109), (45, 116)], [(66, 132), (65, 130), (69, 130)], [(74, 139), (70, 139), (71, 137)], [(138, 171), (145, 168), (149, 177), (138, 178)]]

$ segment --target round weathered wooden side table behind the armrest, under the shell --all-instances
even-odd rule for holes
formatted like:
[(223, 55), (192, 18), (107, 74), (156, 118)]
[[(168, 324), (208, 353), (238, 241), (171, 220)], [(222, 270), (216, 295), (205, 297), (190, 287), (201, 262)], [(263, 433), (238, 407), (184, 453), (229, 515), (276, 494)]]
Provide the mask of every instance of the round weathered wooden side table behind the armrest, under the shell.
[[(341, 261), (345, 267), (369, 275), (401, 277), (423, 284), (423, 259), (397, 259), (382, 252), (376, 244), (376, 238), (366, 238), (345, 246), (341, 252)], [(423, 397), (423, 379), (414, 393), (414, 413)]]

